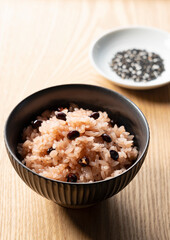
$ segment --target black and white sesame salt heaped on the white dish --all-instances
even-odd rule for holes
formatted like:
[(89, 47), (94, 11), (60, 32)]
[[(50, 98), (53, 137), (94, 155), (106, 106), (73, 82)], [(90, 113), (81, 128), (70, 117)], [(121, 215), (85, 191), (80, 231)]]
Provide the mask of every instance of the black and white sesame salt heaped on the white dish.
[(122, 79), (135, 82), (154, 80), (165, 71), (163, 59), (158, 54), (140, 49), (117, 52), (110, 66)]

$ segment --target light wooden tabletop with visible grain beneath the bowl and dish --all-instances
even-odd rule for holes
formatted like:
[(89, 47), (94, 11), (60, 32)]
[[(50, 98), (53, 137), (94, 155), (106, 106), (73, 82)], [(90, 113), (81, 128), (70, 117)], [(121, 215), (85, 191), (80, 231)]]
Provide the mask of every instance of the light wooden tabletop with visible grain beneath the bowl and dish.
[[(168, 240), (170, 86), (150, 91), (119, 88), (93, 69), (92, 40), (105, 30), (141, 24), (170, 31), (168, 0), (0, 1), (0, 239)], [(28, 188), (3, 143), (5, 120), (29, 94), (52, 85), (89, 83), (134, 101), (151, 130), (146, 161), (122, 192), (95, 207), (59, 207)]]

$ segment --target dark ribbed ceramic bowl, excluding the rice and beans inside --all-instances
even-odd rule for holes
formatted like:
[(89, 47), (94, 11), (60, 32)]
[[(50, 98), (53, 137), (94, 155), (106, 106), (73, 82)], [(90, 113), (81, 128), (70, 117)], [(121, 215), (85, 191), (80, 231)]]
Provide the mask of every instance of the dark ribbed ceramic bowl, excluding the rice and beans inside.
[[(96, 111), (107, 111), (118, 125), (125, 125), (127, 131), (135, 135), (139, 156), (126, 172), (93, 183), (68, 183), (42, 177), (22, 164), (17, 144), (23, 128), (43, 110), (67, 106), (70, 102)], [(92, 85), (61, 85), (36, 92), (14, 108), (5, 126), (5, 145), (13, 167), (29, 187), (59, 205), (80, 208), (113, 196), (135, 177), (147, 153), (149, 127), (139, 108), (119, 93)]]

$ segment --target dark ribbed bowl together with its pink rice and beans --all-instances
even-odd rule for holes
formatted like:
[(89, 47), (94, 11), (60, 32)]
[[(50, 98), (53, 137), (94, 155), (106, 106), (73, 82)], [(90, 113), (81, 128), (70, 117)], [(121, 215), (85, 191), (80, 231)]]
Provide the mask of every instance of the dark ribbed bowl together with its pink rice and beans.
[(20, 102), (4, 138), (14, 169), (30, 188), (61, 206), (81, 208), (129, 184), (144, 162), (150, 135), (143, 113), (126, 97), (69, 84)]

